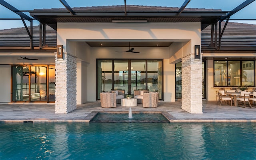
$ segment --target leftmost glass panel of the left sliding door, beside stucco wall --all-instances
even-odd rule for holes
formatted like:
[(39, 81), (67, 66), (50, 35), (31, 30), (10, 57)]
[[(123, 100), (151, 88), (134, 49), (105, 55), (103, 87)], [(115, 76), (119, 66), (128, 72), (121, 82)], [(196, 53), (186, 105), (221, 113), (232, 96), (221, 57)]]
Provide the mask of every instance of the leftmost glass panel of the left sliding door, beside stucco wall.
[(12, 67), (12, 101), (29, 100), (29, 67)]

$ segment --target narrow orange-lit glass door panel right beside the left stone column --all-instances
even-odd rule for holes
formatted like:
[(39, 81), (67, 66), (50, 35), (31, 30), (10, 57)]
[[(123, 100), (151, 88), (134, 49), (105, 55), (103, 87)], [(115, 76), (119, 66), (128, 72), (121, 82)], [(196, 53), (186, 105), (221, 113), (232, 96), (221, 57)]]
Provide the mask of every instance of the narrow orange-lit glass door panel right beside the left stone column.
[(49, 66), (49, 101), (55, 101), (55, 66)]

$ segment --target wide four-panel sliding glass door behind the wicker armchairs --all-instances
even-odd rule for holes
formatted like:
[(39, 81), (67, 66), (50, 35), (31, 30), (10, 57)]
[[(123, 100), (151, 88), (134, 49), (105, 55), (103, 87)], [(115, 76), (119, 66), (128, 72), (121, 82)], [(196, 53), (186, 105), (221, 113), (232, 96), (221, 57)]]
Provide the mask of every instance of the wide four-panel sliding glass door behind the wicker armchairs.
[(162, 66), (162, 60), (97, 60), (97, 100), (100, 92), (110, 90), (132, 95), (134, 90), (149, 90), (162, 99)]

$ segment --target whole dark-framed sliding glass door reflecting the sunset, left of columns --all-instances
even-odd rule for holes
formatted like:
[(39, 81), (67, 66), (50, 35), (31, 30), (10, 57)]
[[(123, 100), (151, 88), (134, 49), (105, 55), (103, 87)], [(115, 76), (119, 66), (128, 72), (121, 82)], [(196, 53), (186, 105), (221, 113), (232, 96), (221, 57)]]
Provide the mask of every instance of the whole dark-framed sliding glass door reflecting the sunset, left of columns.
[(12, 102), (54, 102), (55, 66), (12, 66)]

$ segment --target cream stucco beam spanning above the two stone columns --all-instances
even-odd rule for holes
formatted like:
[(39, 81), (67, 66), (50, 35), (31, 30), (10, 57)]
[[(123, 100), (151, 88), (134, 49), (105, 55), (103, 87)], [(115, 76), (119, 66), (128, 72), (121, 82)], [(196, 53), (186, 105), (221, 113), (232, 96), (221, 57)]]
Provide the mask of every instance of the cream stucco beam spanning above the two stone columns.
[(57, 44), (72, 41), (171, 41), (188, 42), (191, 52), (201, 44), (200, 23), (58, 23)]

